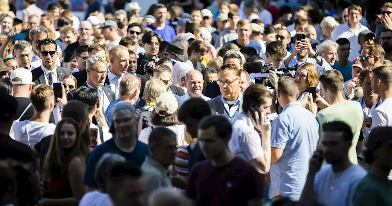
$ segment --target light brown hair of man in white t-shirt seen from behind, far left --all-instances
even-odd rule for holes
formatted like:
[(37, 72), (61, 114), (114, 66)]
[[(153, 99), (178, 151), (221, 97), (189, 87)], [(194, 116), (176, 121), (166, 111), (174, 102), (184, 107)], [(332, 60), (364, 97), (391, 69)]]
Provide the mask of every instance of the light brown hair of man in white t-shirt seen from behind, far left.
[(31, 90), (30, 100), (35, 111), (42, 112), (54, 102), (53, 89), (46, 84), (39, 84)]

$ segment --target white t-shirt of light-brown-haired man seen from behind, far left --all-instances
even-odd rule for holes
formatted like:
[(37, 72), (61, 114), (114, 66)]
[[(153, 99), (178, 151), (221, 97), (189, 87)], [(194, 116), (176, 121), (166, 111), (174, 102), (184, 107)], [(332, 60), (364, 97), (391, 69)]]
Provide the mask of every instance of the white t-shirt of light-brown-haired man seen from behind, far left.
[(53, 135), (55, 129), (55, 124), (24, 120), (14, 124), (13, 139), (28, 146), (33, 146), (42, 138)]

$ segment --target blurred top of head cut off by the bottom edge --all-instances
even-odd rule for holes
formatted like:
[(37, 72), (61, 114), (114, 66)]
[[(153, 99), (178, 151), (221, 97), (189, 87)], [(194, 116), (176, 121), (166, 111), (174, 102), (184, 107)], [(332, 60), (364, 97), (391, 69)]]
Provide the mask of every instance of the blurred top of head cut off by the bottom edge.
[(149, 206), (191, 206), (188, 199), (178, 190), (161, 188), (151, 193)]

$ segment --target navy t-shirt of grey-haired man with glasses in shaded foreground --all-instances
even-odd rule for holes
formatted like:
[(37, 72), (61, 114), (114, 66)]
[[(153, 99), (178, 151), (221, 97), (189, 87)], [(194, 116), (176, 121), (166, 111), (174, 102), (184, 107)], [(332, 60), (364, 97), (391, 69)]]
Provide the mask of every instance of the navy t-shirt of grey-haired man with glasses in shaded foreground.
[(119, 154), (127, 161), (132, 161), (139, 167), (142, 166), (146, 156), (149, 156), (149, 150), (147, 144), (136, 140), (136, 146), (131, 153), (126, 153), (120, 150), (114, 143), (114, 138), (103, 142), (101, 145), (97, 146), (90, 154), (87, 159), (86, 170), (84, 172), (83, 184), (91, 187), (97, 188), (98, 184), (94, 180), (95, 167), (98, 161), (101, 159), (102, 155), (105, 153), (116, 153)]

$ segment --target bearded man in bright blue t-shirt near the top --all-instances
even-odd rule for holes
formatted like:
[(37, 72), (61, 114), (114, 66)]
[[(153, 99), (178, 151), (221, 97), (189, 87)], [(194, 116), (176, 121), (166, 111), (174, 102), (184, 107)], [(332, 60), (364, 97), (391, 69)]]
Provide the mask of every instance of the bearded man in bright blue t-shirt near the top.
[(166, 25), (166, 16), (167, 16), (167, 8), (163, 4), (157, 4), (154, 6), (154, 17), (156, 21), (154, 24), (150, 24), (147, 26), (151, 28), (152, 31), (157, 33), (164, 41), (171, 42), (174, 38), (176, 38), (176, 31), (174, 31), (173, 27)]

